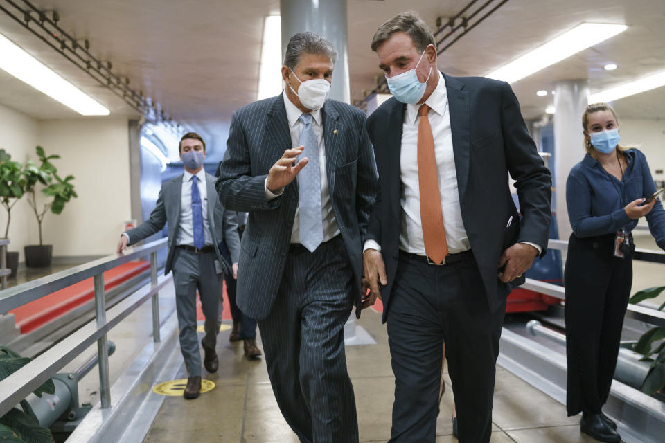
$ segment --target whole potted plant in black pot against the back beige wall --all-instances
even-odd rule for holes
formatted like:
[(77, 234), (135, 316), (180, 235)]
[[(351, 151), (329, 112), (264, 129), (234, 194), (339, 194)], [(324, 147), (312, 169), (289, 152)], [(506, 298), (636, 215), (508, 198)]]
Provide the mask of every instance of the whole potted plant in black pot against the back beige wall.
[[(60, 214), (64, 209), (64, 204), (69, 199), (78, 197), (71, 183), (74, 177), (68, 175), (64, 179), (61, 179), (57, 174), (57, 169), (51, 163), (52, 159), (60, 159), (59, 155), (46, 156), (44, 149), (41, 146), (37, 146), (37, 157), (39, 157), (39, 166), (35, 165), (32, 160), (28, 160), (24, 168), (28, 204), (33, 208), (33, 213), (35, 213), (35, 218), (37, 219), (37, 226), (39, 226), (39, 244), (25, 247), (26, 266), (29, 267), (51, 266), (53, 245), (44, 244), (42, 221), (44, 221), (44, 216), (48, 213), (48, 210), (51, 210), (54, 214)], [(42, 192), (46, 196), (43, 204), (37, 203), (38, 186), (42, 187)]]

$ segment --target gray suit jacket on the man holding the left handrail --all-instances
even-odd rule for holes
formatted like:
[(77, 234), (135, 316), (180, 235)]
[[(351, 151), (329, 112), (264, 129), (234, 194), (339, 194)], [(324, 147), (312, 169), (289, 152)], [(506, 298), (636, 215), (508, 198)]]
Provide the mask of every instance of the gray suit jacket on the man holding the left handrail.
[[(143, 221), (136, 228), (127, 231), (127, 235), (130, 237), (130, 241), (127, 244), (131, 246), (146, 237), (150, 237), (154, 233), (158, 233), (162, 230), (164, 224), (168, 224), (168, 258), (166, 259), (166, 268), (164, 269), (165, 274), (169, 273), (173, 267), (175, 240), (179, 233), (182, 177), (180, 175), (175, 179), (162, 183), (161, 190), (159, 190), (159, 197), (157, 197), (157, 206), (150, 213), (150, 218)], [(206, 188), (208, 190), (208, 223), (213, 236), (215, 254), (217, 254), (217, 259), (224, 273), (231, 273), (229, 263), (220, 254), (219, 244), (222, 240), (226, 242), (231, 252), (231, 260), (233, 260), (233, 263), (237, 263), (238, 255), (240, 255), (240, 238), (238, 237), (236, 214), (229, 210), (224, 210), (224, 206), (220, 203), (219, 199), (215, 198), (217, 196), (217, 192), (215, 192), (215, 177), (211, 174), (206, 174)]]

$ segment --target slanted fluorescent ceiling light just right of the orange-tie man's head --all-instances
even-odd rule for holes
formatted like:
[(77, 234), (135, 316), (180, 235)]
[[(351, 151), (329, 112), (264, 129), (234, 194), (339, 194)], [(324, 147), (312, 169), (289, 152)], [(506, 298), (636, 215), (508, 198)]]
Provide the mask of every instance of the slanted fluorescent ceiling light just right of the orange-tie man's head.
[(623, 33), (628, 26), (599, 23), (583, 23), (556, 37), (533, 51), (522, 55), (487, 75), (489, 78), (517, 82), (524, 77), (560, 62), (573, 54)]

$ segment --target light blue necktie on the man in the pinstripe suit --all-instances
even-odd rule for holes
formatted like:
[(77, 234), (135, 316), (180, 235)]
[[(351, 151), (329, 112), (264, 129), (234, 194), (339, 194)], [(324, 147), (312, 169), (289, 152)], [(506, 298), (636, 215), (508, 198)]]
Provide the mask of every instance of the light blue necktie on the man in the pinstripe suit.
[(300, 133), (302, 156), (310, 159), (298, 174), (300, 193), (300, 242), (310, 252), (314, 252), (323, 242), (323, 215), (321, 214), (321, 174), (319, 172), (319, 143), (312, 128), (312, 114), (303, 114)]

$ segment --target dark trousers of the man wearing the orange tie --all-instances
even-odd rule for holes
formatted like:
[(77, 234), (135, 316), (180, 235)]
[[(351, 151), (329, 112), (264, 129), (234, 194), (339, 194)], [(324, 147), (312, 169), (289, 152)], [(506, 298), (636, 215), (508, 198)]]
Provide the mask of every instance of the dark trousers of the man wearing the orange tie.
[(435, 441), (444, 343), (459, 441), (490, 441), (504, 311), (505, 302), (490, 311), (472, 255), (433, 266), (400, 253), (387, 317), (395, 374), (390, 442)]

